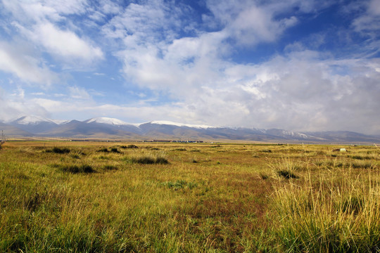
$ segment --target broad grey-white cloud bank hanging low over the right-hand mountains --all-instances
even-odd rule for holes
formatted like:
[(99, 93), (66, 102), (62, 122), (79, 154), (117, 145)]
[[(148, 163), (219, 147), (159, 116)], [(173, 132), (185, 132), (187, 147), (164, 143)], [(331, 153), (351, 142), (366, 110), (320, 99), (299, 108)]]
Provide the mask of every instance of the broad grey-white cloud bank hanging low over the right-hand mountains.
[[(230, 63), (219, 72), (208, 67), (198, 79), (192, 78), (199, 72), (177, 70), (182, 82), (170, 93), (181, 102), (171, 105), (173, 110), (165, 119), (217, 126), (378, 133), (379, 64), (378, 60), (334, 60), (315, 51), (296, 51), (260, 65)], [(179, 79), (164, 73), (172, 82)], [(372, 124), (363, 123), (368, 117)]]

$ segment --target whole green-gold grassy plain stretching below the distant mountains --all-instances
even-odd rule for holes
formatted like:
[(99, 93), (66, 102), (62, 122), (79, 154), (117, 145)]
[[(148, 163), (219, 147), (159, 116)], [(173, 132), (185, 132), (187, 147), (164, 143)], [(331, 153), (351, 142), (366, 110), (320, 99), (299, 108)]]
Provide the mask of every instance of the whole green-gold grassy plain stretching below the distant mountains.
[(376, 146), (7, 142), (0, 252), (380, 252), (379, 162)]

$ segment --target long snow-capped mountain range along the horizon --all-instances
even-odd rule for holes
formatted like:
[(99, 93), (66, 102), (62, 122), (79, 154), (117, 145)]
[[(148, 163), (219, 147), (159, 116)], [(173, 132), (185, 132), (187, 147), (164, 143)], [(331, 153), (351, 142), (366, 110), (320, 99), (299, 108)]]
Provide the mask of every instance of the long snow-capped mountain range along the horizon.
[(380, 143), (380, 136), (353, 131), (297, 132), (283, 129), (216, 127), (153, 121), (129, 124), (120, 119), (96, 117), (84, 121), (54, 120), (24, 116), (0, 122), (0, 130), (11, 137), (102, 138), (135, 141), (263, 141), (305, 143)]

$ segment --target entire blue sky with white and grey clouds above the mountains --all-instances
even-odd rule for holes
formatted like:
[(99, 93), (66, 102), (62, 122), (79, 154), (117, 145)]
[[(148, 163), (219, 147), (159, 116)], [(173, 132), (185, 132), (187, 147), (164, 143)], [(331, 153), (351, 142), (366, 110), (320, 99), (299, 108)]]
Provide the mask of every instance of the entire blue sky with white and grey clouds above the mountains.
[(0, 119), (380, 134), (380, 0), (0, 0)]

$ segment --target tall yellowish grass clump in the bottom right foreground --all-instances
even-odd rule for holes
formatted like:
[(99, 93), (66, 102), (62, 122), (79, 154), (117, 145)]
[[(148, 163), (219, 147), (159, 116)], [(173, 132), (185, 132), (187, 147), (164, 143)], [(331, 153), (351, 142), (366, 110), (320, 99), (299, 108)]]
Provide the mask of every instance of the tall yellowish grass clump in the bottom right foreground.
[(330, 167), (274, 183), (274, 233), (284, 252), (380, 252), (380, 184), (374, 167)]

